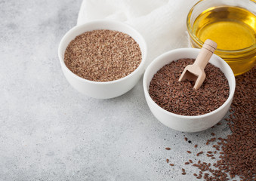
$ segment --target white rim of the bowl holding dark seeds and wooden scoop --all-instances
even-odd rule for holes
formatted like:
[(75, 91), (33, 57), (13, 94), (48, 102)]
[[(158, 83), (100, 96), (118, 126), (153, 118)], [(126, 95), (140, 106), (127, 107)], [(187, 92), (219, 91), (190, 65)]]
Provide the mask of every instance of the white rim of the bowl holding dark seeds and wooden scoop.
[[(173, 112), (168, 112), (167, 110), (162, 109), (162, 107), (160, 107), (158, 104), (155, 103), (155, 101), (153, 101), (153, 99), (150, 97), (150, 94), (149, 94), (149, 90), (148, 90), (147, 82), (146, 81), (147, 81), (148, 76), (151, 75), (150, 74), (150, 69), (152, 69), (152, 67), (155, 66), (157, 63), (161, 62), (162, 58), (164, 58), (164, 57), (171, 57), (171, 54), (174, 54), (174, 53), (184, 54), (187, 51), (198, 51), (198, 53), (199, 53), (200, 49), (199, 48), (177, 48), (177, 49), (174, 49), (172, 51), (167, 51), (164, 54), (160, 55), (159, 57), (156, 57), (156, 59), (153, 60), (153, 62), (150, 63), (149, 66), (147, 66), (147, 69), (146, 69), (146, 71), (144, 73), (144, 76), (143, 76), (143, 90), (144, 90), (144, 94), (145, 94), (146, 100), (150, 101), (150, 103), (153, 104), (153, 106), (156, 107), (157, 109), (159, 109), (161, 112), (163, 112), (163, 113), (165, 113), (167, 115), (174, 116), (176, 118), (183, 118), (184, 120), (189, 121), (191, 119), (206, 118), (206, 117), (208, 117), (210, 115), (214, 115), (217, 112), (220, 112), (221, 109), (224, 109), (224, 107), (227, 106), (227, 104), (230, 103), (230, 101), (233, 100), (233, 95), (235, 94), (235, 89), (236, 89), (236, 78), (235, 78), (235, 75), (233, 74), (233, 71), (230, 68), (230, 66), (221, 57), (217, 56), (216, 54), (213, 54), (212, 56), (214, 58), (217, 58), (217, 59), (221, 60), (224, 63), (224, 65), (227, 66), (228, 74), (231, 75), (230, 76), (230, 84), (231, 84), (231, 86), (229, 86), (230, 87), (230, 94), (229, 94), (229, 97), (227, 98), (227, 100), (225, 101), (225, 103), (223, 103), (220, 107), (218, 107), (214, 111), (208, 112), (208, 113), (203, 114), (203, 115), (177, 115), (177, 114), (174, 114)], [(167, 64), (165, 64), (165, 65), (167, 65)], [(227, 80), (229, 81), (228, 78), (227, 78)], [(232, 84), (232, 82), (233, 82), (233, 84)]]

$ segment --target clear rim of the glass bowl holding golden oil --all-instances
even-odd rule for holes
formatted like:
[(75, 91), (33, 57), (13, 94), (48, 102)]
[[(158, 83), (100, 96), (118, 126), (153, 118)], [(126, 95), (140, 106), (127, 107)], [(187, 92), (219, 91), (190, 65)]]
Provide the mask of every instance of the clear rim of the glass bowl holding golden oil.
[[(190, 17), (191, 17), (191, 14), (193, 13), (194, 9), (196, 8), (196, 6), (199, 5), (201, 2), (205, 2), (205, 1), (210, 1), (210, 0), (200, 0), (199, 2), (196, 2), (196, 4), (193, 5), (192, 8), (190, 8), (189, 13), (187, 14), (187, 23), (186, 23), (187, 24), (187, 32), (189, 33), (190, 37), (193, 38), (193, 40), (196, 42), (196, 44), (199, 44), (199, 46), (201, 46), (201, 47), (202, 47), (202, 44), (204, 44), (204, 42), (201, 41), (196, 35), (194, 35), (191, 24), (190, 24)], [(248, 1), (253, 2), (253, 0), (248, 0)], [(243, 9), (246, 9), (246, 8), (243, 8)], [(256, 43), (251, 44), (251, 46), (248, 46), (246, 48), (241, 48), (241, 49), (236, 49), (236, 50), (224, 50), (224, 49), (216, 48), (215, 51), (217, 51), (221, 54), (245, 54), (245, 53), (254, 51), (255, 48), (256, 48)]]

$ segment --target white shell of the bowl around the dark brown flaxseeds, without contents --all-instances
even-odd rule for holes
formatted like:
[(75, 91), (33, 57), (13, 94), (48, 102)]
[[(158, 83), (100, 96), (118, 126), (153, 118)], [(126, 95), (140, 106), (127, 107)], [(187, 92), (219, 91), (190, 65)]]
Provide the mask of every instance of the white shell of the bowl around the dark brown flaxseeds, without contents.
[(217, 124), (218, 121), (221, 121), (221, 119), (224, 118), (224, 116), (227, 114), (227, 111), (230, 109), (230, 105), (233, 100), (236, 87), (235, 76), (232, 69), (230, 69), (230, 66), (223, 59), (221, 59), (221, 57), (218, 57), (215, 54), (212, 55), (209, 63), (219, 67), (221, 71), (224, 72), (224, 75), (226, 76), (230, 86), (230, 95), (221, 107), (204, 115), (177, 115), (162, 109), (151, 99), (149, 94), (149, 86), (153, 75), (155, 75), (156, 72), (159, 71), (159, 69), (161, 69), (163, 66), (171, 63), (174, 60), (179, 60), (182, 58), (196, 59), (199, 51), (200, 49), (197, 48), (180, 48), (174, 51), (168, 51), (150, 63), (150, 66), (147, 67), (143, 77), (144, 94), (151, 112), (153, 112), (153, 115), (155, 115), (155, 117), (160, 122), (162, 122), (162, 124), (165, 124), (174, 130), (180, 130), (184, 132), (197, 132), (214, 126), (214, 124)]

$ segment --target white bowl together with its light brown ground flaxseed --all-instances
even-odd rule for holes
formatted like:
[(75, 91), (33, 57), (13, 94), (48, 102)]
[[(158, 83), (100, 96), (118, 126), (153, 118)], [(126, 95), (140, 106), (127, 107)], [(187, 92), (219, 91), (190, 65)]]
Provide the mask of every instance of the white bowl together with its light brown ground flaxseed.
[(145, 69), (147, 44), (125, 23), (95, 20), (66, 32), (58, 55), (72, 87), (88, 97), (109, 99), (137, 84)]

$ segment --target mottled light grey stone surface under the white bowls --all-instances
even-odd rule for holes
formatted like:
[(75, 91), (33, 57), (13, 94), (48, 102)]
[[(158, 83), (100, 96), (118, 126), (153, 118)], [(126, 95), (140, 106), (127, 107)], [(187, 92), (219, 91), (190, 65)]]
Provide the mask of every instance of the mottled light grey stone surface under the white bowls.
[(81, 3), (0, 0), (0, 180), (195, 180), (198, 170), (184, 162), (213, 150), (205, 140), (230, 133), (227, 124), (200, 133), (165, 127), (147, 106), (142, 79), (110, 100), (74, 90), (57, 47)]

